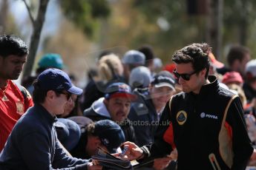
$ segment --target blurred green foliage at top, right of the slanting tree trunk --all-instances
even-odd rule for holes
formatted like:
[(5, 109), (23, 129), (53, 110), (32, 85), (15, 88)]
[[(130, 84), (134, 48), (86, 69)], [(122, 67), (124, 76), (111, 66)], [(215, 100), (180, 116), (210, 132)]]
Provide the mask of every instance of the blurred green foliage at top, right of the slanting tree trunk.
[(61, 0), (64, 15), (76, 24), (89, 37), (96, 29), (96, 18), (105, 18), (110, 14), (110, 7), (105, 0)]

